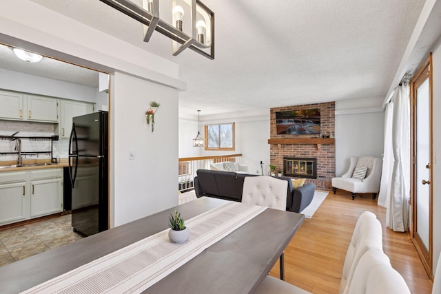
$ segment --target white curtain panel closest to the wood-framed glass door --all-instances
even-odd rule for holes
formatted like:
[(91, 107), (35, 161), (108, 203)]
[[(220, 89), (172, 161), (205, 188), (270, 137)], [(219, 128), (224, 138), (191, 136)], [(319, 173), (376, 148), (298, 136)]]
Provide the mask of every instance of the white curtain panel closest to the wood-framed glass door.
[(386, 225), (393, 231), (407, 231), (410, 197), (410, 105), (409, 86), (398, 86), (393, 96), (393, 171)]

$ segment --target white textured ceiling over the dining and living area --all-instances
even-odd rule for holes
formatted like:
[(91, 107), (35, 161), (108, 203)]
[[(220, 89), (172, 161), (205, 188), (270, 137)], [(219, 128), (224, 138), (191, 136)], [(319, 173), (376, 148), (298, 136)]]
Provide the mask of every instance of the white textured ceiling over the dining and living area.
[[(155, 32), (101, 1), (32, 0), (180, 65), (180, 116), (386, 96), (424, 0), (203, 0), (216, 56), (172, 56)], [(134, 1), (141, 3), (141, 0)]]

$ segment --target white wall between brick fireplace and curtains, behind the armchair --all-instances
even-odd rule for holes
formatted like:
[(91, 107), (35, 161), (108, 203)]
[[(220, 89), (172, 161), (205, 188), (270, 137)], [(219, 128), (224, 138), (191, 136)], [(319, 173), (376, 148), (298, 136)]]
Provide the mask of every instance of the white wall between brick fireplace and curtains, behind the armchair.
[(336, 101), (336, 176), (344, 174), (351, 156), (382, 158), (382, 97)]

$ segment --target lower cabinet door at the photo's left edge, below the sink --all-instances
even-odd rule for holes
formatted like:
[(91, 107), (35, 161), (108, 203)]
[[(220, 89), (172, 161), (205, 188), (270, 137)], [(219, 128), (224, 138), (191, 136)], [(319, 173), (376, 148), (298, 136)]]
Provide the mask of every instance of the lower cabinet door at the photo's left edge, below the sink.
[(0, 225), (26, 219), (26, 182), (0, 185)]

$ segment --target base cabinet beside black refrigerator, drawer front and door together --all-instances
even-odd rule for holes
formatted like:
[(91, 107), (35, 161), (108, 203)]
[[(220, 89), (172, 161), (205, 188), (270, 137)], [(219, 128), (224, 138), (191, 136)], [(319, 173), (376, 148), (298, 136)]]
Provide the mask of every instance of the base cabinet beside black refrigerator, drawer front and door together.
[(30, 218), (63, 211), (63, 169), (30, 171)]

